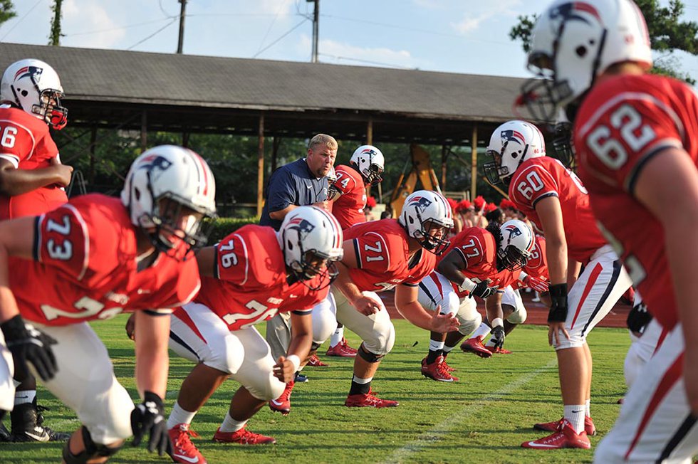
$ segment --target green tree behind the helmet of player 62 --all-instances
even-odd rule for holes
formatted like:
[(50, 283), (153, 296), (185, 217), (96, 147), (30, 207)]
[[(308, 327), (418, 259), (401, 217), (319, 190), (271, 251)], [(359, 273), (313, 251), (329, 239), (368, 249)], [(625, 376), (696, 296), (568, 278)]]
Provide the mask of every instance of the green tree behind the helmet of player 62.
[[(670, 0), (667, 7), (660, 6), (659, 0), (636, 0), (635, 3), (647, 21), (652, 50), (660, 53), (655, 58), (652, 73), (670, 75), (694, 85), (696, 80), (678, 68), (673, 52), (682, 50), (698, 55), (698, 23), (680, 21), (684, 14), (684, 4), (680, 0)], [(536, 19), (538, 15), (535, 14), (519, 16), (519, 23), (509, 31), (512, 40), (523, 42), (526, 53), (531, 51), (531, 30)]]

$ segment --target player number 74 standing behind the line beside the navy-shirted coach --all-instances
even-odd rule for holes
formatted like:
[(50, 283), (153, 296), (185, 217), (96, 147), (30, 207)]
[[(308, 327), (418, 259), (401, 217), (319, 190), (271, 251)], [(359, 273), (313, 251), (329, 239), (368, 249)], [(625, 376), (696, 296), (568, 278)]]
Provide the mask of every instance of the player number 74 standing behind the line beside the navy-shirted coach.
[[(366, 186), (375, 186), (382, 181), (385, 169), (382, 152), (373, 145), (362, 145), (354, 150), (349, 165), (335, 168), (336, 179), (330, 186), (328, 199), (332, 201), (332, 213), (345, 230), (354, 224), (366, 221)], [(344, 338), (344, 326), (338, 323), (330, 337), (328, 356), (355, 357), (356, 349)]]

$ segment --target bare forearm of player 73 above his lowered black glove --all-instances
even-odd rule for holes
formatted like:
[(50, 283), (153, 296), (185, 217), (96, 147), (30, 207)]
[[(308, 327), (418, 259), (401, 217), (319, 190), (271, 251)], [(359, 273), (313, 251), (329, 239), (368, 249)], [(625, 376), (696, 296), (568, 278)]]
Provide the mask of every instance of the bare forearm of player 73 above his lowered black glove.
[(160, 398), (167, 392), (167, 371), (170, 357), (167, 341), (170, 336), (170, 316), (149, 316), (136, 313), (138, 336), (136, 337), (135, 379), (139, 394), (152, 391)]

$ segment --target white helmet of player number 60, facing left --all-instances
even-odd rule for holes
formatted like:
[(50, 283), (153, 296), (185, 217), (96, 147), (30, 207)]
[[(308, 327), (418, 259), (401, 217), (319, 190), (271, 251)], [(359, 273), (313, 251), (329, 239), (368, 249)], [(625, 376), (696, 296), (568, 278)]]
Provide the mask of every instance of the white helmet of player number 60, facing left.
[(543, 134), (530, 122), (513, 120), (497, 127), (489, 139), (487, 156), (494, 160), (483, 165), (490, 184), (501, 184), (526, 159), (546, 156)]

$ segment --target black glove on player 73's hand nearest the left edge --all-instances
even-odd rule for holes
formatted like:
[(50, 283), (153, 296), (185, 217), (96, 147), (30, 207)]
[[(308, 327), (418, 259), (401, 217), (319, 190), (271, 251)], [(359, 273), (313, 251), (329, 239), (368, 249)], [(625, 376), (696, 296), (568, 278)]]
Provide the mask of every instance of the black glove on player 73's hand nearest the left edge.
[(42, 380), (53, 379), (58, 366), (51, 345), (57, 343), (56, 339), (49, 337), (31, 324), (25, 324), (20, 315), (3, 322), (0, 329), (5, 336), (7, 349), (12, 353), (15, 379), (24, 381), (27, 378), (28, 362), (31, 362)]

